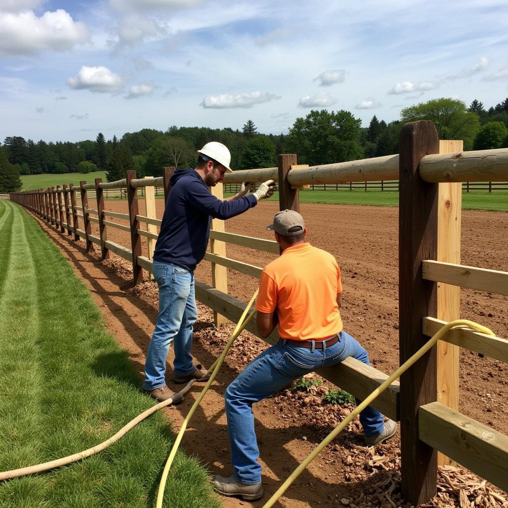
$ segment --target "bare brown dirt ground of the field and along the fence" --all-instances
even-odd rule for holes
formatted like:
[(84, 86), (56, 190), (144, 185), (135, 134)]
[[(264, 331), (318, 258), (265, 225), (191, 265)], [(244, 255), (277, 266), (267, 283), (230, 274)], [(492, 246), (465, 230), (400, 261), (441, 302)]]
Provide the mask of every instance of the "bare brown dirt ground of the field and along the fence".
[[(163, 201), (157, 200), (157, 217), (162, 216)], [(144, 213), (140, 202), (140, 213)], [(106, 209), (127, 210), (123, 201), (107, 201)], [(276, 203), (262, 203), (226, 223), (226, 231), (259, 238), (272, 238), (266, 231)], [(378, 207), (302, 204), (301, 212), (309, 230), (308, 240), (337, 258), (342, 272), (344, 293), (342, 318), (345, 329), (369, 352), (374, 366), (387, 373), (398, 366), (397, 248), (398, 210)], [(125, 224), (119, 219), (111, 219)], [(463, 212), (462, 263), (465, 265), (508, 270), (506, 227), (508, 214)], [(95, 225), (92, 225), (95, 226)], [(140, 375), (157, 313), (156, 284), (146, 282), (132, 288), (129, 263), (111, 256), (101, 263), (98, 253), (87, 254), (83, 241), (74, 242), (43, 225), (62, 253), (86, 282), (94, 299), (103, 309), (109, 331), (131, 352)], [(92, 228), (93, 229), (93, 228)], [(95, 232), (95, 234), (98, 234)], [(108, 238), (130, 246), (129, 234), (108, 228)], [(146, 251), (145, 239), (143, 249)], [(264, 266), (273, 255), (242, 247), (227, 246), (228, 257)], [(132, 272), (131, 272), (132, 273)], [(210, 283), (208, 263), (196, 270), (196, 278)], [(247, 301), (257, 288), (257, 279), (228, 270), (229, 293)], [(508, 298), (461, 291), (461, 317), (492, 328), (499, 336), (508, 336)], [(212, 314), (199, 305), (193, 354), (209, 365), (222, 351), (232, 327), (215, 330)], [(190, 424), (183, 446), (198, 455), (212, 473), (231, 472), (229, 445), (224, 415), (224, 390), (242, 367), (262, 351), (266, 344), (245, 333), (233, 346), (218, 382), (205, 397), (201, 413)], [(461, 351), (460, 410), (492, 428), (508, 433), (508, 367), (478, 354)], [(171, 372), (171, 367), (169, 367)], [(169, 375), (168, 375), (169, 377)], [(171, 384), (170, 384), (171, 386)], [(199, 387), (175, 408), (168, 408), (175, 427), (197, 396)], [(326, 384), (310, 391), (287, 390), (255, 406), (256, 430), (263, 464), (264, 500), (300, 463), (351, 408), (323, 405)], [(366, 449), (358, 421), (350, 425), (293, 484), (281, 498), (280, 506), (401, 506), (400, 454), (398, 436), (389, 443)], [(428, 506), (458, 506), (460, 490), (467, 490), (478, 479), (463, 471), (441, 470), (438, 497)], [(447, 478), (445, 478), (447, 477)], [(472, 483), (471, 483), (472, 482)], [(488, 487), (487, 487), (488, 488)], [(485, 489), (485, 487), (484, 487)], [(496, 497), (479, 497), (470, 488), (474, 506), (507, 503)], [(499, 492), (499, 491), (495, 491)], [(387, 494), (388, 493), (388, 494)], [(497, 504), (496, 504), (497, 503)], [(225, 506), (249, 505), (238, 499), (225, 499)], [(252, 503), (262, 506), (263, 502)]]

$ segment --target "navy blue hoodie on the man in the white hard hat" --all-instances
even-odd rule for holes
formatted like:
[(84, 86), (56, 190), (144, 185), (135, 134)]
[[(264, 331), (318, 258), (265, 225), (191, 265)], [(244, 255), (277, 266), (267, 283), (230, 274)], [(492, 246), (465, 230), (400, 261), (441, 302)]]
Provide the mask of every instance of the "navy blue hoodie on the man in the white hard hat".
[(235, 201), (221, 201), (210, 194), (194, 169), (176, 170), (170, 183), (153, 260), (195, 270), (206, 252), (211, 217), (235, 217), (256, 206), (258, 200), (250, 194)]

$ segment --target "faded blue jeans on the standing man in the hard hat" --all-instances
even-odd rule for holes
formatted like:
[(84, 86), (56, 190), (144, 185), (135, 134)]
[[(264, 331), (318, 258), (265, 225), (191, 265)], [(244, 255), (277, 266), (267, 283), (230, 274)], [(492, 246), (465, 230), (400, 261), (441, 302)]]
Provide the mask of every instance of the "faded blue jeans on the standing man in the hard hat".
[(190, 347), (193, 325), (198, 317), (194, 272), (154, 261), (153, 277), (159, 290), (159, 313), (146, 354), (145, 390), (155, 390), (166, 384), (166, 359), (173, 340), (175, 375), (185, 376), (194, 370)]

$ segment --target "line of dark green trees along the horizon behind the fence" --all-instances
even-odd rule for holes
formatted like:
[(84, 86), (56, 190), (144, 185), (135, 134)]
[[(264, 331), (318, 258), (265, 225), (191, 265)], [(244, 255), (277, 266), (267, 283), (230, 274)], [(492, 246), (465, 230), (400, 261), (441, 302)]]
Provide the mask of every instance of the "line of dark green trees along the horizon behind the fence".
[(390, 155), (399, 151), (402, 125), (423, 119), (435, 123), (439, 139), (464, 140), (465, 150), (508, 146), (508, 98), (489, 109), (476, 99), (469, 107), (456, 99), (433, 99), (402, 109), (400, 116), (387, 123), (374, 115), (362, 128), (349, 111), (312, 110), (296, 118), (287, 135), (260, 134), (249, 119), (242, 130), (173, 125), (165, 132), (142, 129), (111, 140), (99, 133), (94, 141), (76, 143), (12, 136), (0, 146), (0, 192), (18, 190), (19, 175), (27, 174), (105, 170), (113, 181), (134, 169), (140, 177), (161, 176), (166, 166), (193, 167), (196, 150), (209, 141), (230, 149), (234, 169), (276, 166), (277, 153), (296, 153), (299, 163), (311, 166)]

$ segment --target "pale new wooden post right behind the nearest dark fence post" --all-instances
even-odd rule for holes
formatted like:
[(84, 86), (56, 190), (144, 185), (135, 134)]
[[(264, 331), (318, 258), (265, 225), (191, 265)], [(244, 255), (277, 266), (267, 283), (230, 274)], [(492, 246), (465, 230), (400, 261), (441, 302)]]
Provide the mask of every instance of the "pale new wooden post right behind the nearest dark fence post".
[[(439, 153), (461, 152), (463, 141), (439, 141)], [(439, 183), (437, 208), (437, 261), (460, 265), (460, 226), (462, 183)], [(460, 317), (460, 288), (437, 284), (437, 319), (453, 321)], [(444, 340), (437, 342), (437, 402), (459, 410), (460, 348)], [(437, 464), (451, 464), (451, 459), (437, 453)]]

